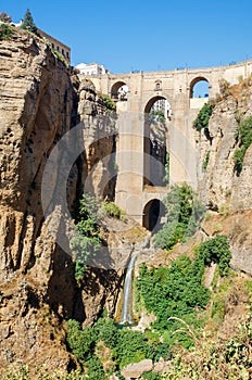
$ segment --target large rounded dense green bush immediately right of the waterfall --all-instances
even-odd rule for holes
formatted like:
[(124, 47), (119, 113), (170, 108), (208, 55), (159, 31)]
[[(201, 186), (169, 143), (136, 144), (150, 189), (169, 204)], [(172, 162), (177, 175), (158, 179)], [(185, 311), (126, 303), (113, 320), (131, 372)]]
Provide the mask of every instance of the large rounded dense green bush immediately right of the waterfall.
[[(189, 325), (200, 326), (196, 308), (203, 308), (210, 299), (209, 290), (202, 284), (203, 271), (202, 263), (191, 263), (187, 256), (178, 257), (169, 268), (148, 270), (144, 264), (140, 268), (138, 291), (147, 311), (155, 314), (153, 326), (165, 332), (165, 343), (168, 345), (174, 344), (175, 340), (185, 346), (193, 343), (191, 337), (181, 331), (181, 322), (168, 318), (176, 317)], [(177, 330), (180, 332), (175, 334)]]

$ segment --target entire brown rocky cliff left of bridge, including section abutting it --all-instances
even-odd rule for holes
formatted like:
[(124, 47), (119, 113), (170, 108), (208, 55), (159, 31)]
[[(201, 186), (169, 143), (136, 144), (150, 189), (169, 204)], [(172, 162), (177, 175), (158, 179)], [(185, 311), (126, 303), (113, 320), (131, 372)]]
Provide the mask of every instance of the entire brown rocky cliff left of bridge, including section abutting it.
[[(45, 217), (41, 205), (41, 183), (50, 153), (78, 123), (83, 123), (84, 148), (67, 181), (72, 212), (87, 179), (89, 190), (99, 198), (113, 197), (114, 172), (110, 168), (115, 149), (114, 122), (92, 84), (79, 83), (45, 41), (26, 31), (14, 31), (11, 39), (1, 41), (2, 368), (29, 364), (66, 370), (75, 366), (65, 346), (64, 319), (74, 317), (90, 325), (105, 305), (111, 313), (115, 307), (122, 271), (117, 275), (112, 269), (90, 268), (78, 286), (72, 256), (56, 244), (64, 221), (62, 206), (53, 204)], [(98, 164), (101, 157), (104, 160)], [(54, 173), (51, 178), (53, 185)], [(112, 245), (116, 232), (106, 228)], [(122, 240), (117, 237), (116, 249), (123, 246), (129, 252), (131, 241)]]

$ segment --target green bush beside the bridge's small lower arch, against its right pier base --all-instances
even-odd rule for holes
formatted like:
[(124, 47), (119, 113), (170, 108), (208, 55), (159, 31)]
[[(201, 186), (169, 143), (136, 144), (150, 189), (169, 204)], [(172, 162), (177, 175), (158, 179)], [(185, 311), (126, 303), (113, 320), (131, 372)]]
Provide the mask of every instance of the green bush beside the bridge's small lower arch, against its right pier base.
[(156, 248), (172, 250), (192, 236), (204, 215), (204, 207), (188, 185), (173, 186), (164, 199), (167, 223), (154, 237)]

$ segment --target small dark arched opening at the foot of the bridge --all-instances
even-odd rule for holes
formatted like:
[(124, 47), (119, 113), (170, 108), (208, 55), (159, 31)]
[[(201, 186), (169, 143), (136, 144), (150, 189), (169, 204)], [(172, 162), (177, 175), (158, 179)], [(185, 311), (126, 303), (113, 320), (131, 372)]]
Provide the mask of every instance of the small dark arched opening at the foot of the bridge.
[(164, 224), (165, 206), (160, 200), (151, 200), (143, 210), (142, 226), (152, 231), (159, 231)]

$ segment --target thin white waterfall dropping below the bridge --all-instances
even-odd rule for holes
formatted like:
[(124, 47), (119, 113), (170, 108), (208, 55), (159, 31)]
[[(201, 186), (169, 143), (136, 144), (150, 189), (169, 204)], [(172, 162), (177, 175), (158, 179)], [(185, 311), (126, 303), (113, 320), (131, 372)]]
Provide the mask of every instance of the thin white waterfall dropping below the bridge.
[(136, 261), (136, 255), (131, 255), (128, 268), (125, 276), (124, 282), (124, 297), (123, 297), (123, 308), (122, 308), (122, 317), (121, 325), (131, 325), (133, 320), (133, 274), (134, 274), (134, 265)]

